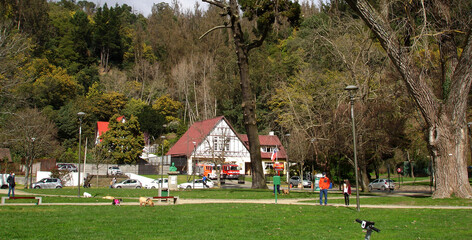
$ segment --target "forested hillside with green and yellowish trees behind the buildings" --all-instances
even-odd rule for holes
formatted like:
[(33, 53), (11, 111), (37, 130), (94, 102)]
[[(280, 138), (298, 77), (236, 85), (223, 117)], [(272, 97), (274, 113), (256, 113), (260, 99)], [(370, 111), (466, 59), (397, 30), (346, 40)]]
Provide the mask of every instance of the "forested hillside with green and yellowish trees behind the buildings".
[[(389, 11), (403, 11), (396, 7)], [(16, 161), (76, 162), (78, 112), (86, 113), (82, 139), (90, 149), (96, 122), (120, 115), (137, 120), (146, 144), (166, 135), (167, 148), (189, 124), (220, 115), (245, 133), (232, 36), (221, 28), (200, 39), (222, 22), (220, 9), (205, 9), (159, 3), (142, 16), (127, 5), (0, 1), (2, 146)], [(257, 24), (246, 19), (245, 33)], [(422, 56), (415, 64), (439, 74), (438, 45), (431, 41), (415, 51)], [(299, 167), (352, 179), (344, 88), (357, 85), (362, 187), (369, 172), (404, 161), (414, 161), (418, 174), (430, 172), (421, 113), (381, 43), (344, 1), (301, 3), (299, 24), (276, 21), (263, 45), (251, 50), (249, 65), (259, 132), (275, 131)], [(447, 95), (448, 84), (433, 82), (437, 95)]]

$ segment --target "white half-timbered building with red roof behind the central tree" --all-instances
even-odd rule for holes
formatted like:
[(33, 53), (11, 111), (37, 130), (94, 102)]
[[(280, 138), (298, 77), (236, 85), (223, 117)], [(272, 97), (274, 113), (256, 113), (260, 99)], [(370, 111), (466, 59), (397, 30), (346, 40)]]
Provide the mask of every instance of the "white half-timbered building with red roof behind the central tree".
[[(268, 174), (273, 164), (276, 161), (285, 162), (287, 155), (279, 138), (273, 133), (261, 135), (259, 140), (263, 166)], [(277, 159), (272, 161), (276, 149)], [(247, 135), (237, 134), (224, 116), (192, 124), (166, 155), (171, 156), (171, 162), (178, 171), (189, 175), (201, 174), (196, 167), (198, 165), (215, 163), (236, 164), (240, 174), (251, 174)]]

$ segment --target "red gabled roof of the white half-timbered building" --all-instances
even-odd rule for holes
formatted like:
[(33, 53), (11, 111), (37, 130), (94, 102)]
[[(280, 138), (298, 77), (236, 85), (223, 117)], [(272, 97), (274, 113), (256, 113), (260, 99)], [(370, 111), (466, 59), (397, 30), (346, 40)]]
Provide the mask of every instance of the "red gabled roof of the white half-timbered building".
[(190, 157), (194, 148), (193, 142), (195, 142), (197, 146), (200, 145), (220, 121), (225, 121), (234, 132), (231, 124), (229, 124), (223, 116), (195, 122), (190, 126), (187, 132), (180, 137), (174, 146), (169, 149), (166, 155)]

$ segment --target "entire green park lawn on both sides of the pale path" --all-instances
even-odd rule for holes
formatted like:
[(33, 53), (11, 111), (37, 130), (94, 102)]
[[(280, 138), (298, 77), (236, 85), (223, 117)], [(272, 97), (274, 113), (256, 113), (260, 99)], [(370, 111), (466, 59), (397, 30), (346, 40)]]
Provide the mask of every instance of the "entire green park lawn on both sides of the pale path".
[[(21, 189), (48, 195), (44, 203), (110, 202), (102, 196), (137, 202), (156, 196), (151, 189), (88, 188), (95, 198), (77, 198), (77, 188)], [(173, 191), (191, 199), (273, 199), (270, 190), (205, 189)], [(4, 196), (4, 195), (2, 195)], [(279, 199), (317, 201), (318, 192), (292, 191)], [(14, 200), (34, 202), (33, 200)], [(330, 192), (329, 203), (344, 200)], [(355, 195), (351, 205), (355, 206)], [(8, 203), (8, 202), (7, 202)], [(139, 207), (107, 206), (1, 206), (0, 239), (363, 239), (356, 218), (374, 221), (381, 230), (372, 239), (472, 239), (470, 209), (369, 209), (363, 204), (414, 206), (472, 206), (470, 199), (361, 195), (355, 208), (283, 204), (185, 204)]]

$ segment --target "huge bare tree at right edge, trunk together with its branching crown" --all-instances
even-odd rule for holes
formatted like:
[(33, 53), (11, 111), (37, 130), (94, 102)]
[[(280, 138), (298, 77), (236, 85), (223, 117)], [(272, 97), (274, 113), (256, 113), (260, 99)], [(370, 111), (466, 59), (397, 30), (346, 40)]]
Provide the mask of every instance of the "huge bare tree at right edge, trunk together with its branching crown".
[[(379, 12), (365, 0), (347, 2), (380, 41), (425, 120), (437, 184), (433, 197), (471, 198), (466, 126), (472, 83), (470, 5), (462, 0), (393, 2), (391, 6), (381, 4), (384, 8)], [(400, 7), (404, 14), (390, 12), (394, 7)], [(398, 31), (392, 26), (399, 26)], [(439, 48), (439, 76), (431, 74), (435, 69), (427, 55), (417, 55), (421, 50), (428, 54), (429, 44)], [(426, 64), (418, 64), (418, 59)], [(444, 90), (435, 91), (430, 82)]]

